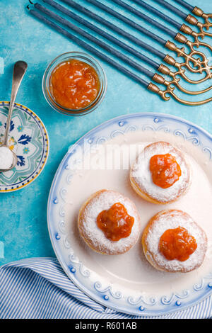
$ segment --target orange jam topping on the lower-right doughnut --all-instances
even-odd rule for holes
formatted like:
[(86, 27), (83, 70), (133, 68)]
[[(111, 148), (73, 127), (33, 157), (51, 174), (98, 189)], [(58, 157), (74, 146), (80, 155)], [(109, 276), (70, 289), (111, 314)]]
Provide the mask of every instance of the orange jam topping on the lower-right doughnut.
[(185, 261), (196, 247), (196, 239), (184, 227), (168, 229), (160, 237), (159, 250), (167, 260)]

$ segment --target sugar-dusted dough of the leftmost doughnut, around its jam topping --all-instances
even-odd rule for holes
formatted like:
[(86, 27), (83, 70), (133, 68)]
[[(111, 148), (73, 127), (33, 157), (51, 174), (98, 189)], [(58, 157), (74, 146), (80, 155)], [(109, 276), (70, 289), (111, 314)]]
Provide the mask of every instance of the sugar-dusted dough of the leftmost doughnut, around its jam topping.
[[(112, 241), (105, 236), (98, 227), (98, 215), (103, 210), (109, 210), (115, 203), (121, 203), (130, 217), (134, 218), (134, 224), (128, 237)], [(83, 204), (78, 214), (78, 230), (88, 246), (101, 254), (122, 254), (129, 251), (136, 244), (141, 232), (139, 213), (134, 203), (122, 196), (122, 194), (110, 190), (101, 190), (94, 193)]]

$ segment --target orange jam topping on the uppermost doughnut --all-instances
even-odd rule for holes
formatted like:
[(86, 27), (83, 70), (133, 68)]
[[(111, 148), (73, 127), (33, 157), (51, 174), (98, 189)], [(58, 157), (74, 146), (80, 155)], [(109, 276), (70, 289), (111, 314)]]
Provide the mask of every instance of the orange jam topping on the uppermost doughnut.
[(154, 155), (150, 159), (150, 171), (153, 183), (162, 188), (175, 184), (181, 176), (181, 169), (171, 154)]

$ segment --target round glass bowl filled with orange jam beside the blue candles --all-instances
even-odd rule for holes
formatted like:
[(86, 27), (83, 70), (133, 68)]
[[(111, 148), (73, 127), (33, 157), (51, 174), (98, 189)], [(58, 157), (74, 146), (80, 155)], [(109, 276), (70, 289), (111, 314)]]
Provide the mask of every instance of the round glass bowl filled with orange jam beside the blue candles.
[(66, 115), (85, 115), (105, 97), (107, 79), (100, 63), (83, 52), (66, 52), (48, 65), (43, 94), (52, 108)]

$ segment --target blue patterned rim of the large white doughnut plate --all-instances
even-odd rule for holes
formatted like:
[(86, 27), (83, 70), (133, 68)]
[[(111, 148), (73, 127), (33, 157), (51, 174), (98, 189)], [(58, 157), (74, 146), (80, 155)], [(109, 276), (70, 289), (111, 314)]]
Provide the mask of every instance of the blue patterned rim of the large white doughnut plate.
[(70, 244), (66, 231), (66, 212), (64, 209), (66, 186), (71, 186), (71, 176), (73, 175), (73, 171), (70, 171), (68, 166), (70, 160), (74, 162), (76, 146), (82, 146), (85, 140), (90, 145), (105, 142), (129, 130), (163, 131), (180, 136), (182, 140), (188, 140), (192, 142), (192, 145), (201, 149), (208, 162), (212, 161), (212, 136), (187, 120), (162, 113), (136, 113), (109, 120), (84, 135), (62, 159), (49, 193), (47, 207), (49, 235), (57, 259), (59, 259), (67, 276), (90, 298), (106, 307), (131, 315), (165, 315), (190, 307), (210, 295), (212, 292), (212, 268), (211, 273), (201, 276), (201, 281), (197, 278), (198, 281), (189, 286), (187, 290), (180, 292), (172, 290), (171, 293), (169, 290), (167, 295), (163, 293), (144, 297), (142, 295), (135, 296), (133, 292), (126, 295), (122, 290), (115, 290), (110, 281), (106, 281), (106, 285), (105, 281), (102, 283), (103, 277), (101, 280), (100, 274), (95, 274), (86, 267), (83, 258), (78, 258), (78, 254), (75, 253), (74, 244)]

